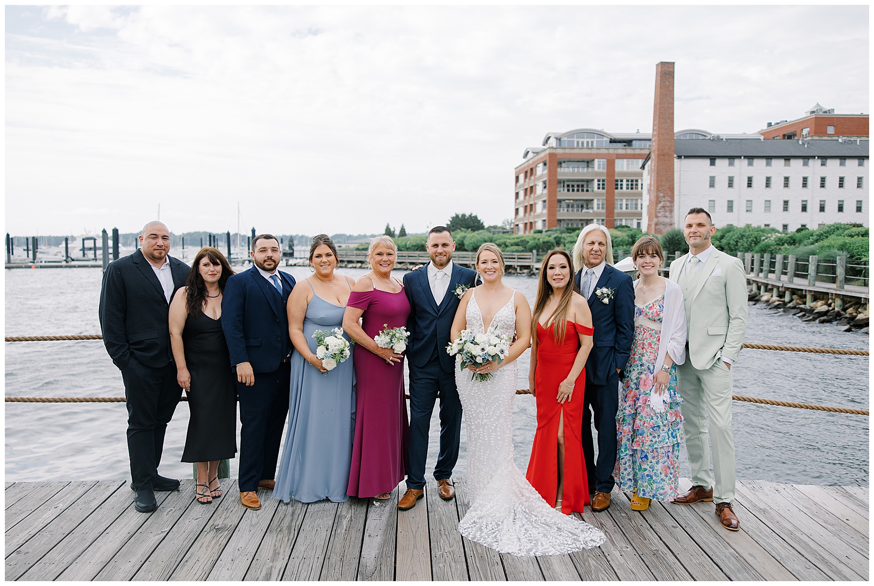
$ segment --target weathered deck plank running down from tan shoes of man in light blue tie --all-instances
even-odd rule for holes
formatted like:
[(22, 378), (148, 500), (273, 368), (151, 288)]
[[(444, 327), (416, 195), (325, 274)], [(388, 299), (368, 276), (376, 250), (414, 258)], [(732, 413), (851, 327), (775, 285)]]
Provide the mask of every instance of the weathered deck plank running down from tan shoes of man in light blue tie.
[[(230, 498), (243, 508), (239, 504), (238, 495), (234, 494)], [(265, 488), (258, 489), (258, 498), (261, 501), (261, 508), (257, 511), (246, 509), (243, 512), (231, 539), (218, 556), (218, 562), (212, 567), (207, 580), (239, 582), (246, 576), (252, 557), (259, 548), (264, 532), (273, 520), (280, 503), (278, 499), (274, 499), (273, 491)]]

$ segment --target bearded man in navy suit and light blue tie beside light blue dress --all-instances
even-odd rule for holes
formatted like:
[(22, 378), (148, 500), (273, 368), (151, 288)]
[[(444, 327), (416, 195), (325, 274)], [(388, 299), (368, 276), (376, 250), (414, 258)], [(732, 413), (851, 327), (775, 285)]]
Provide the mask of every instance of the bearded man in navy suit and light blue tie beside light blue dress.
[(288, 414), (288, 314), (295, 278), (278, 270), (279, 239), (252, 239), (254, 266), (227, 279), (222, 330), (237, 373), (239, 396), (239, 501), (260, 509), (258, 488), (273, 490), (282, 427)]

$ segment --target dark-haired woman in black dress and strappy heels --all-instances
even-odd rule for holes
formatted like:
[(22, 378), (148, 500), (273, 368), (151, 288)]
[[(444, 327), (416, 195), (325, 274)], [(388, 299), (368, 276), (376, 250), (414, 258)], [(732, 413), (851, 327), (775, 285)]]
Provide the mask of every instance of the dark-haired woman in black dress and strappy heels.
[(182, 461), (198, 467), (197, 499), (203, 505), (222, 495), (218, 462), (237, 453), (236, 377), (221, 329), (222, 292), (232, 274), (218, 249), (201, 248), (170, 304), (177, 381), (191, 410)]

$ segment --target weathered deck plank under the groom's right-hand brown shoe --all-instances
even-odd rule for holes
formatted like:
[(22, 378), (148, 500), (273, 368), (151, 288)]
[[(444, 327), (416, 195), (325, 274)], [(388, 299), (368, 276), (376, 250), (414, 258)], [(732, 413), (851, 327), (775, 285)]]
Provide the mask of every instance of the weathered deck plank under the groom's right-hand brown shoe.
[[(457, 499), (457, 497), (456, 497)], [(455, 500), (442, 500), (437, 481), (428, 480), (425, 500), (428, 505), (428, 533), (431, 537), (431, 575), (434, 582), (464, 582), (469, 579), (464, 545), (458, 533), (458, 507)]]

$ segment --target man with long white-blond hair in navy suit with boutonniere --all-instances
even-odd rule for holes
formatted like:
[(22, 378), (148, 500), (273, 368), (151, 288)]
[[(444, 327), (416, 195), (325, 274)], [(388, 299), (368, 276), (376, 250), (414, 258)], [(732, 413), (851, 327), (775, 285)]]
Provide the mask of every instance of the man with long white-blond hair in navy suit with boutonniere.
[[(616, 411), (619, 379), (635, 341), (635, 287), (631, 277), (614, 269), (610, 231), (589, 224), (573, 245), (573, 265), (579, 266), (574, 283), (592, 310), (593, 348), (586, 360), (583, 398), (583, 455), (589, 490), (594, 489), (592, 510), (610, 506), (613, 469), (616, 465)], [(598, 462), (594, 461), (592, 415), (598, 431)]]

